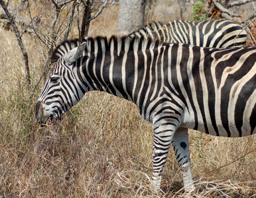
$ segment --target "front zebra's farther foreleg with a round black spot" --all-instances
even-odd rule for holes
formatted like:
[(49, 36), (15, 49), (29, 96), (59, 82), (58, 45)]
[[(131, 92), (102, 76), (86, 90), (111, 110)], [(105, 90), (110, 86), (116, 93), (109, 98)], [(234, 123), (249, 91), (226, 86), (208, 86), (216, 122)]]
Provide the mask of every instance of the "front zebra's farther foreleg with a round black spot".
[(180, 171), (182, 172), (185, 191), (195, 189), (190, 172), (190, 153), (188, 145), (188, 129), (178, 128), (172, 139), (172, 147), (174, 149)]

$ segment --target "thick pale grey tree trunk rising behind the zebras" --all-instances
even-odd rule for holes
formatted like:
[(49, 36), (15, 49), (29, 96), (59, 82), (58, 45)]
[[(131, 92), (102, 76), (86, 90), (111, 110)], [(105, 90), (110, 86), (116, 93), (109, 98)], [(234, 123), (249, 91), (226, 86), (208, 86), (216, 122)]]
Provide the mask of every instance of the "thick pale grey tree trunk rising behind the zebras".
[(144, 25), (146, 0), (121, 0), (115, 32), (126, 35)]

